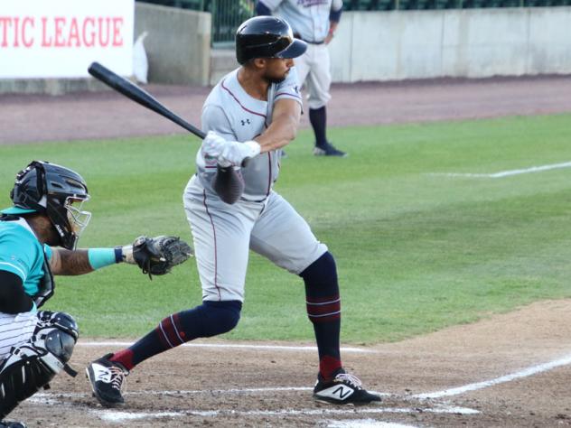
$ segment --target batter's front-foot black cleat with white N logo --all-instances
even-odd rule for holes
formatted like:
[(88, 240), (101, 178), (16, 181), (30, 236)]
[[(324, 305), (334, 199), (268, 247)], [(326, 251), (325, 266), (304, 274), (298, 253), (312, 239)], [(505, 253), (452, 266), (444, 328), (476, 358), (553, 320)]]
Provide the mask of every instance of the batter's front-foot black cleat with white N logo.
[(321, 374), (317, 375), (314, 400), (332, 405), (368, 405), (379, 402), (380, 396), (367, 392), (359, 378), (340, 368), (331, 381), (323, 380)]

